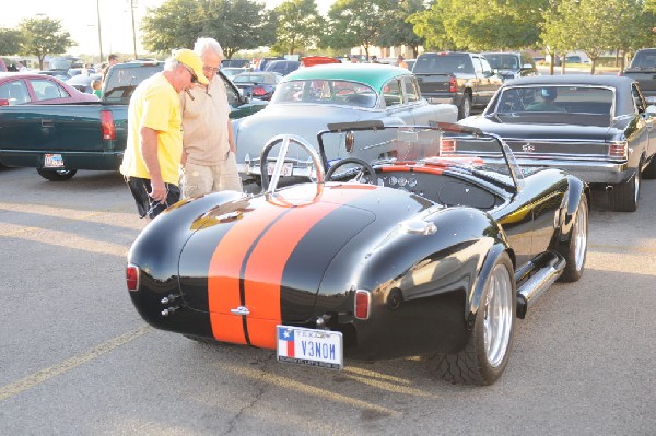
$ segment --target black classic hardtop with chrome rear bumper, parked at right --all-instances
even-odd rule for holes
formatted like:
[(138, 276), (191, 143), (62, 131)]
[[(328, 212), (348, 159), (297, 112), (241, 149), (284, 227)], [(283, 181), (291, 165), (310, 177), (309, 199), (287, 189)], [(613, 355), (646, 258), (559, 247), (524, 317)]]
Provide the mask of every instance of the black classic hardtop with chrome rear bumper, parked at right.
[[(481, 116), (460, 121), (503, 138), (523, 166), (549, 165), (608, 191), (616, 211), (637, 209), (641, 179), (656, 178), (656, 106), (612, 75), (512, 80)], [(457, 150), (480, 154), (481, 150)]]

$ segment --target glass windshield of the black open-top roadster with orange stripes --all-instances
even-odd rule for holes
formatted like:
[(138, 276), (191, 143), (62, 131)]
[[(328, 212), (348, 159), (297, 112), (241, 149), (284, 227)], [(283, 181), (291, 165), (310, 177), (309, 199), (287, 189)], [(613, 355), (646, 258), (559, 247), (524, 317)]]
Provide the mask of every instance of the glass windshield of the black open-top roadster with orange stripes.
[[(330, 161), (323, 157), (324, 165), (330, 167), (347, 157), (371, 155), (371, 150), (377, 149), (380, 151), (375, 153), (378, 157), (367, 162), (372, 166), (394, 166), (399, 169), (415, 165), (415, 173), (421, 172), (417, 165), (441, 167), (454, 173), (477, 174), (482, 179), (508, 188), (523, 185), (524, 175), (534, 170), (520, 168), (507, 144), (478, 129), (450, 123), (434, 127), (380, 126), (379, 121), (328, 125), (330, 131), (319, 135), (320, 150), (338, 152)], [(485, 153), (480, 150), (485, 150)], [(500, 161), (500, 156), (503, 160)], [(484, 157), (496, 157), (496, 162), (502, 163), (485, 163)], [(344, 172), (348, 177), (348, 166), (344, 166)]]

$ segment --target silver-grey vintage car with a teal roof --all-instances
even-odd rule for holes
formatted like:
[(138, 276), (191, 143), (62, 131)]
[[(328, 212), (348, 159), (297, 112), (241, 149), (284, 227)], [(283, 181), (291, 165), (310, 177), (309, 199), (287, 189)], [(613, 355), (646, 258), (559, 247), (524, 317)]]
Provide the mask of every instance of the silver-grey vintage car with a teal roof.
[[(405, 68), (371, 63), (332, 63), (301, 68), (286, 75), (271, 103), (258, 114), (233, 122), (237, 166), (245, 178), (260, 177), (259, 155), (265, 142), (278, 134), (295, 134), (318, 146), (316, 134), (330, 122), (383, 120), (387, 125), (454, 122), (457, 108), (431, 105), (421, 96), (417, 79)], [(372, 148), (367, 161), (385, 155), (389, 144)], [(335, 158), (333, 144), (327, 153)], [(308, 177), (306, 157), (290, 157), (284, 176)]]

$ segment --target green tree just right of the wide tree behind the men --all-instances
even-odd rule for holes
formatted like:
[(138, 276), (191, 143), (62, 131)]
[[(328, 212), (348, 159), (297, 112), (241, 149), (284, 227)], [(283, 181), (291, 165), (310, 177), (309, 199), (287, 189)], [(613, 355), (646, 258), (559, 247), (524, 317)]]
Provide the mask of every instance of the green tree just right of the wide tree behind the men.
[(321, 40), (324, 19), (315, 0), (288, 0), (276, 8), (276, 16), (273, 50), (293, 55), (300, 48), (314, 48)]

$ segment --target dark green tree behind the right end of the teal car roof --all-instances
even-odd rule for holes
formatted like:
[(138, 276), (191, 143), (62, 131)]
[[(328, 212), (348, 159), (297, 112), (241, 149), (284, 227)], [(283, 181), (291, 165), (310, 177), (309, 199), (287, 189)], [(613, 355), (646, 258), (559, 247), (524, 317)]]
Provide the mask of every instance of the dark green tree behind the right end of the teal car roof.
[(387, 25), (380, 30), (376, 44), (382, 47), (403, 45), (411, 47), (412, 52), (417, 55), (419, 46), (424, 44), (424, 38), (414, 33), (408, 17), (425, 10), (423, 0), (403, 0), (398, 5), (389, 8), (385, 13)]

